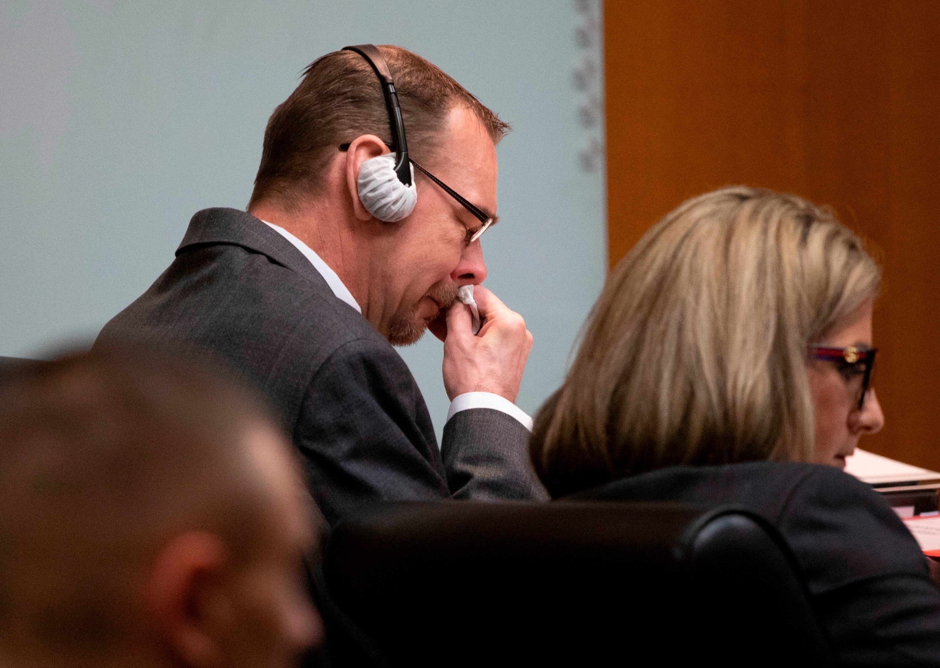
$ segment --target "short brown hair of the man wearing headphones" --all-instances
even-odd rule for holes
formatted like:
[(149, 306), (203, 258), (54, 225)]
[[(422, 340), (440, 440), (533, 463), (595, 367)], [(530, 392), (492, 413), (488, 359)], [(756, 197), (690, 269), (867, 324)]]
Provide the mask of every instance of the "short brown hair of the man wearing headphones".
[[(494, 144), (509, 132), (507, 123), (420, 55), (399, 46), (383, 45), (379, 51), (395, 80), (408, 148), (416, 160), (434, 148), (447, 112), (455, 107), (472, 109)], [(248, 208), (276, 200), (295, 209), (306, 194), (318, 192), (322, 171), (339, 145), (363, 134), (391, 144), (378, 77), (365, 58), (351, 51), (318, 58), (268, 121)]]

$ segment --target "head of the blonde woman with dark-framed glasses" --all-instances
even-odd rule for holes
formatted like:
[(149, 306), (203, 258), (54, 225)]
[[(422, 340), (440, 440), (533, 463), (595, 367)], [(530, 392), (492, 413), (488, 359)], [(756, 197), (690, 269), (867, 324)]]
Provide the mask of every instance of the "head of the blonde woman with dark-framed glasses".
[(684, 202), (611, 273), (540, 410), (542, 482), (560, 496), (678, 464), (844, 466), (884, 422), (863, 389), (880, 283), (854, 233), (799, 197)]

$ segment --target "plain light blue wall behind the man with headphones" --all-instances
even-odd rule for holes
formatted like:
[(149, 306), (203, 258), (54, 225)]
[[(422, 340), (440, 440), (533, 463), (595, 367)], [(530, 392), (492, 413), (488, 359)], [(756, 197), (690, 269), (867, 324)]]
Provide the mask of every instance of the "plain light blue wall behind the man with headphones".
[[(173, 258), (190, 216), (243, 208), (265, 122), (317, 56), (396, 43), (508, 120), (486, 285), (535, 347), (520, 406), (561, 380), (603, 282), (603, 177), (572, 71), (583, 0), (0, 0), (0, 355), (89, 342)], [(597, 131), (593, 131), (597, 134)], [(441, 344), (402, 351), (438, 430)]]

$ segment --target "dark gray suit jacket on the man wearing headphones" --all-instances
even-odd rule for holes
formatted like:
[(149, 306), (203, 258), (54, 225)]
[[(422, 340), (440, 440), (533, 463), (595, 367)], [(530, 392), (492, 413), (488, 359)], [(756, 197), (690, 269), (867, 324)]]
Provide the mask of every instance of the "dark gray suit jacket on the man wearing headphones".
[(195, 346), (239, 371), (279, 412), (331, 525), (388, 499), (547, 498), (506, 413), (457, 413), (439, 450), (398, 352), (244, 211), (196, 213), (173, 263), (96, 343), (108, 341)]

